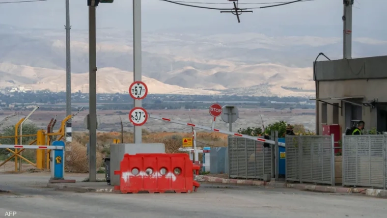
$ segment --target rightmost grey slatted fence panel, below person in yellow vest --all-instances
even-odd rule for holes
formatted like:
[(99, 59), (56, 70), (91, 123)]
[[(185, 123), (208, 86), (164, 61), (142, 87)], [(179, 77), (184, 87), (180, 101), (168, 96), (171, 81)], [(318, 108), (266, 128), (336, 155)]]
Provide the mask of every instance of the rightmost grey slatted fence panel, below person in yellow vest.
[(387, 188), (387, 135), (343, 135), (343, 185)]

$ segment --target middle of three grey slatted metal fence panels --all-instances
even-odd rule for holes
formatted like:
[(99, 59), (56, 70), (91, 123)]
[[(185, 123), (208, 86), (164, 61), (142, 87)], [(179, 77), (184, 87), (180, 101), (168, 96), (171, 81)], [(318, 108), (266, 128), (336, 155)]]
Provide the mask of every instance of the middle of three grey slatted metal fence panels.
[(287, 135), (286, 180), (335, 185), (333, 135)]

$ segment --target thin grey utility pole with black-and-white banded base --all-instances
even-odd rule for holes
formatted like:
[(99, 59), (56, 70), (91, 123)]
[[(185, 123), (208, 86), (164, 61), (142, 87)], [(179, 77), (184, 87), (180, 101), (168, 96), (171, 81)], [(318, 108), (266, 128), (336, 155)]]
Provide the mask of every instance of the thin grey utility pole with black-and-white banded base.
[[(66, 0), (66, 117), (71, 115), (70, 3)], [(66, 123), (66, 141), (72, 141), (71, 119)]]

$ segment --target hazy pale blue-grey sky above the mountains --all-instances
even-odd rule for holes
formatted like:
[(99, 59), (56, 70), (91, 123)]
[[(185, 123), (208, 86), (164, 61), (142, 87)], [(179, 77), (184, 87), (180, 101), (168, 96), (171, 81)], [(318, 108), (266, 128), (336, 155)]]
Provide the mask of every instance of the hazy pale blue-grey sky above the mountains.
[[(0, 0), (1, 2), (20, 0)], [(189, 1), (189, 0), (182, 0)], [(193, 0), (191, 0), (193, 1)], [(239, 3), (278, 2), (280, 0), (240, 0)], [(287, 0), (281, 0), (287, 1)], [(280, 1), (280, 2), (281, 2)], [(194, 2), (228, 3), (226, 0), (195, 0)], [(162, 2), (143, 0), (143, 30), (195, 28), (216, 30), (237, 28), (242, 32), (259, 32), (259, 29), (281, 29), (285, 35), (341, 36), (343, 15), (342, 0), (316, 0), (291, 5), (256, 9), (241, 16), (237, 23), (231, 14), (219, 11), (189, 8)], [(258, 5), (263, 6), (263, 5)], [(353, 35), (386, 38), (385, 20), (387, 0), (355, 0), (353, 8)], [(211, 7), (211, 5), (210, 5)], [(218, 5), (214, 7), (231, 7)], [(88, 29), (87, 0), (70, 0), (70, 23), (73, 29)], [(132, 28), (132, 1), (115, 0), (113, 4), (100, 4), (97, 8), (98, 28)], [(0, 4), (0, 23), (30, 28), (64, 29), (65, 0), (47, 2)], [(383, 29), (380, 29), (380, 28)]]

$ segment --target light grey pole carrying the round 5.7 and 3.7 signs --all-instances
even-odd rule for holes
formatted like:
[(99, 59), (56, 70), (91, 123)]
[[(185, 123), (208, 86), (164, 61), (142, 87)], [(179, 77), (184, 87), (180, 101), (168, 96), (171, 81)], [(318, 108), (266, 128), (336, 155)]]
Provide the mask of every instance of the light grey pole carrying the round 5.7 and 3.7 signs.
[[(141, 0), (133, 0), (133, 81), (141, 81)], [(134, 107), (141, 107), (142, 100), (134, 100)], [(142, 143), (142, 127), (134, 126), (134, 143)]]

